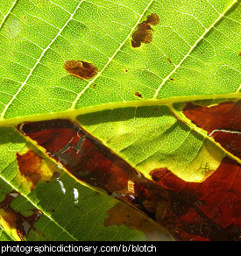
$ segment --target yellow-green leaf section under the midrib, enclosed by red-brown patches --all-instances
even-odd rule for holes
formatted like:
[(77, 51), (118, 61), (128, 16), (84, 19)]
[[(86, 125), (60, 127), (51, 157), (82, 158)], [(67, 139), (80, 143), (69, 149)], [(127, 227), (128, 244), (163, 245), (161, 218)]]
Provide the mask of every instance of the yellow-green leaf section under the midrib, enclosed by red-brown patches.
[(147, 177), (152, 169), (167, 167), (185, 181), (204, 181), (225, 155), (172, 106), (103, 110), (77, 120)]

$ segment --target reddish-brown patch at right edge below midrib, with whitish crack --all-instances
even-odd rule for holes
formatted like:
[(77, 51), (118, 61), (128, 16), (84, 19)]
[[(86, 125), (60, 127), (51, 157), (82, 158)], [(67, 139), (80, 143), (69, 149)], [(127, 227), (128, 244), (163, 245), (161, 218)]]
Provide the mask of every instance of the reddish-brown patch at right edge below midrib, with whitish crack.
[(203, 107), (186, 103), (183, 113), (227, 151), (241, 158), (241, 101)]

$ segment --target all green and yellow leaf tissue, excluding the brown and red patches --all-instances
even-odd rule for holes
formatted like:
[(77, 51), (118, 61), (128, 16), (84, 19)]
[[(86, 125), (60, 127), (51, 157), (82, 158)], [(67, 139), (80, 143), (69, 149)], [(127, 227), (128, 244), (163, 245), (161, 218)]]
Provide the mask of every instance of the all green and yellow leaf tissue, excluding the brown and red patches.
[[(18, 132), (23, 122), (77, 120), (148, 179), (153, 169), (167, 167), (185, 181), (201, 182), (225, 156), (240, 163), (183, 114), (187, 102), (210, 107), (240, 98), (240, 11), (234, 0), (0, 4), (0, 192), (3, 201), (12, 191), (21, 193), (8, 205), (17, 217), (32, 209), (43, 213), (27, 239), (133, 240), (148, 234), (126, 224), (105, 226), (117, 199), (58, 167)], [(132, 34), (151, 13), (159, 16), (152, 42), (132, 47)], [(67, 60), (89, 62), (98, 73), (88, 80), (69, 75)], [(16, 160), (27, 150), (60, 177), (31, 189)], [(18, 239), (5, 213), (1, 238)], [(149, 217), (131, 214), (157, 231), (154, 239), (172, 239)]]

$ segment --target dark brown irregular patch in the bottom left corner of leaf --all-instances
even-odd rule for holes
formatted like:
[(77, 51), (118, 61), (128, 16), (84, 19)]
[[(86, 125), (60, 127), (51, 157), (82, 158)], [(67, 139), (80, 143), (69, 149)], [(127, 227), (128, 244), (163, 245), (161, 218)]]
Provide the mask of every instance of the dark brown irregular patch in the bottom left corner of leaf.
[[(29, 231), (36, 231), (33, 224), (35, 224), (39, 217), (43, 215), (41, 210), (31, 210), (32, 215), (25, 217), (17, 210), (11, 208), (11, 202), (19, 196), (18, 192), (12, 191), (7, 194), (4, 201), (0, 202), (0, 208), (5, 211), (3, 216), (4, 221), (9, 224), (11, 228), (16, 228), (19, 238), (23, 241), (27, 238)], [(38, 231), (39, 232), (39, 231)], [(41, 233), (41, 235), (43, 235)]]

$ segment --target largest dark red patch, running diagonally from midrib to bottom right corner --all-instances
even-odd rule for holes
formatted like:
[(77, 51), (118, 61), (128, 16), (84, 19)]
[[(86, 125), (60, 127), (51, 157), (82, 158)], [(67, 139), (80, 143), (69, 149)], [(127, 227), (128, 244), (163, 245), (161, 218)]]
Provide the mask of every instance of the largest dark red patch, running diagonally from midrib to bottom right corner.
[[(202, 183), (182, 181), (165, 167), (152, 170), (154, 182), (110, 153), (77, 123), (56, 119), (20, 124), (18, 129), (46, 148), (46, 153), (76, 178), (105, 189), (110, 196), (152, 217), (172, 232), (174, 238), (238, 239), (241, 187), (235, 161), (223, 160)], [(122, 207), (110, 210), (106, 225), (127, 224), (131, 228), (138, 225), (135, 220), (128, 224), (126, 216), (115, 220), (118, 210)]]

